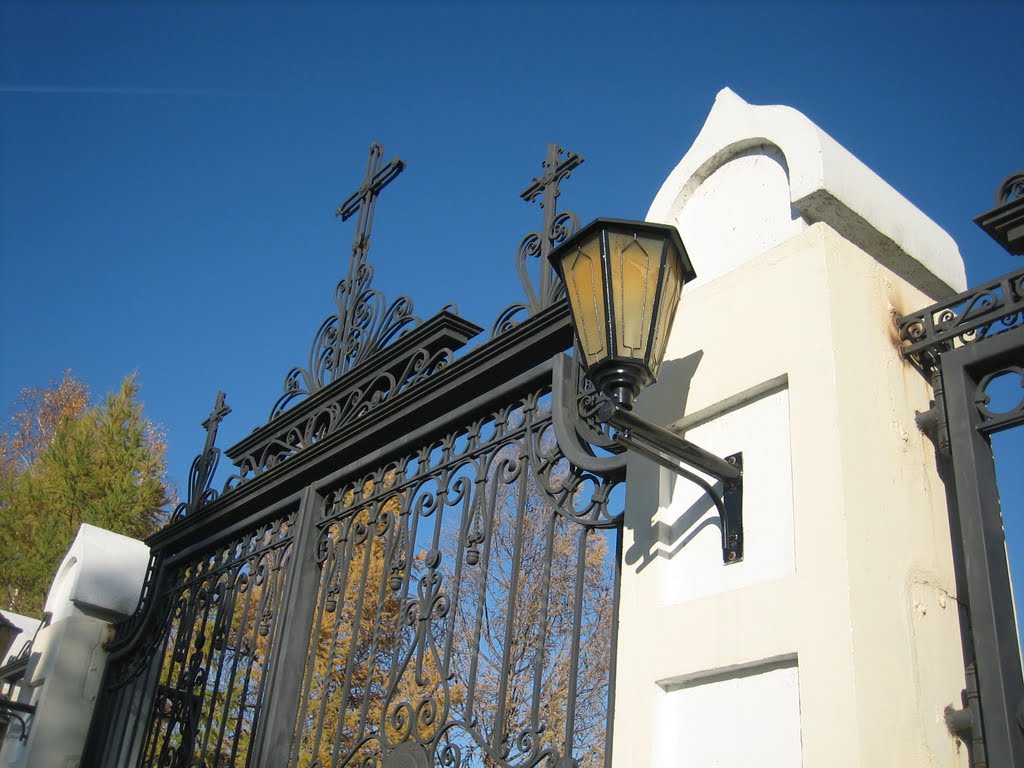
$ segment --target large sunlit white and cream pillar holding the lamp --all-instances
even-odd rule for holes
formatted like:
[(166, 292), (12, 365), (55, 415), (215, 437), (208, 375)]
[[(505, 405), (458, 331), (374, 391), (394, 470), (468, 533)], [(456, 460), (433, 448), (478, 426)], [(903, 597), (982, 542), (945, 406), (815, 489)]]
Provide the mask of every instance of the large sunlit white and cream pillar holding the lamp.
[(894, 319), (955, 244), (800, 113), (722, 91), (647, 216), (697, 272), (638, 411), (742, 452), (742, 562), (707, 497), (631, 458), (615, 768), (966, 766), (944, 488)]

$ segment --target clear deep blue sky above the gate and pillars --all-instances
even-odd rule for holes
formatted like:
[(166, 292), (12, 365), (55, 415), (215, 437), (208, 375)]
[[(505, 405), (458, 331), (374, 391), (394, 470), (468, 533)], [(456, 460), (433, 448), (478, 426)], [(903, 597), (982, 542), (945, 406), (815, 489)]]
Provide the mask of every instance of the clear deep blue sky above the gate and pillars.
[(372, 139), (409, 162), (375, 285), (489, 327), (547, 142), (586, 158), (563, 208), (640, 218), (723, 86), (805, 113), (977, 284), (1022, 263), (971, 221), (1024, 167), (1022, 28), (1021, 2), (2, 2), (0, 403), (137, 372), (183, 488), (217, 389), (227, 445), (304, 364)]

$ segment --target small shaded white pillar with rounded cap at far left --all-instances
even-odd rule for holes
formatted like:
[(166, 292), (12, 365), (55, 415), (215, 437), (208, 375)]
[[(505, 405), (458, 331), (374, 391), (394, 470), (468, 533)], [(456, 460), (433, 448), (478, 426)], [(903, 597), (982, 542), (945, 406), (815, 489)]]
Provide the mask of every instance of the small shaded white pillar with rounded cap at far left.
[(150, 561), (142, 542), (82, 525), (46, 600), (22, 699), (36, 707), (29, 737), (17, 726), (0, 749), (3, 766), (77, 766), (106, 664), (113, 623), (138, 603)]

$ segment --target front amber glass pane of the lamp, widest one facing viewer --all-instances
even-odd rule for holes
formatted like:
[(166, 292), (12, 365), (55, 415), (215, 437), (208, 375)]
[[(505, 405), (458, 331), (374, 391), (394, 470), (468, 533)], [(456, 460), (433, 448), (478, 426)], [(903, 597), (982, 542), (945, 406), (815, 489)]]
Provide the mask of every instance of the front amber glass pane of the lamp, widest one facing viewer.
[(660, 238), (608, 232), (615, 352), (624, 357), (647, 356), (660, 260)]

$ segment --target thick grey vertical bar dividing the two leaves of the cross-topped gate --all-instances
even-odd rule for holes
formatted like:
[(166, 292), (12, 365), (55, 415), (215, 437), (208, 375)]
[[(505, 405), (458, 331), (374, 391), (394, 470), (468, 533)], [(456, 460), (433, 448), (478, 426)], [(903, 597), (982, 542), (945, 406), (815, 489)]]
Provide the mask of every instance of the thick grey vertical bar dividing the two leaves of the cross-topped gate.
[(319, 568), (316, 566), (316, 519), (324, 500), (312, 486), (303, 492), (296, 514), (298, 530), (292, 548), (287, 594), (281, 616), (281, 646), (266, 684), (262, 727), (250, 757), (251, 766), (288, 765), (295, 718), (299, 711), (302, 673), (315, 610)]

